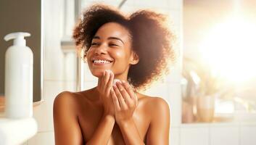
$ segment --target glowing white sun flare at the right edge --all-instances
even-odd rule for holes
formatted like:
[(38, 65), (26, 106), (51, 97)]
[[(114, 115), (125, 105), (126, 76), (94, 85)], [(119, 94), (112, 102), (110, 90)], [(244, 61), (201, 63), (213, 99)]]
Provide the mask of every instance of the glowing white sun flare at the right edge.
[(256, 22), (235, 17), (216, 25), (200, 45), (216, 74), (241, 82), (256, 76)]

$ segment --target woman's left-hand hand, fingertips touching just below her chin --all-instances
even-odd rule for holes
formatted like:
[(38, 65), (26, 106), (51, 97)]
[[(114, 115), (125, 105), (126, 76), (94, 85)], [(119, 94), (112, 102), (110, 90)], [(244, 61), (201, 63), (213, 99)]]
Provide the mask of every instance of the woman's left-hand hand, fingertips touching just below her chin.
[(111, 115), (115, 117), (115, 108), (110, 95), (113, 80), (114, 73), (111, 70), (104, 70), (102, 77), (98, 80), (97, 89), (104, 106), (104, 115)]

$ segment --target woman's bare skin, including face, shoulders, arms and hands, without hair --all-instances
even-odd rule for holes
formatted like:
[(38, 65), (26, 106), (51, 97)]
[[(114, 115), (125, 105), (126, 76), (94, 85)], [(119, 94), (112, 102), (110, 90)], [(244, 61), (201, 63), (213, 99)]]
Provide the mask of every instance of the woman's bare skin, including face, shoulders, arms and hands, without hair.
[[(91, 73), (99, 78), (98, 86), (75, 93), (65, 91), (56, 97), (55, 144), (169, 143), (167, 102), (139, 94), (127, 83), (130, 65), (139, 62), (128, 34), (115, 22), (96, 32), (87, 59)], [(108, 63), (96, 63), (95, 59)], [(114, 85), (114, 78), (123, 81)]]

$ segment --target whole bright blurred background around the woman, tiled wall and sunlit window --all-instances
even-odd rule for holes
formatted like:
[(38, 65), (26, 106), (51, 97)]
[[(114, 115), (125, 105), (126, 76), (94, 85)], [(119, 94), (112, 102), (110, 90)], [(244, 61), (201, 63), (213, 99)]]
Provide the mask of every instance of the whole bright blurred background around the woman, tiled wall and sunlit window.
[(256, 1), (249, 0), (44, 0), (43, 101), (33, 108), (38, 133), (24, 144), (54, 144), (54, 98), (96, 86), (71, 38), (81, 12), (96, 2), (170, 17), (177, 60), (143, 92), (170, 104), (170, 144), (256, 144)]

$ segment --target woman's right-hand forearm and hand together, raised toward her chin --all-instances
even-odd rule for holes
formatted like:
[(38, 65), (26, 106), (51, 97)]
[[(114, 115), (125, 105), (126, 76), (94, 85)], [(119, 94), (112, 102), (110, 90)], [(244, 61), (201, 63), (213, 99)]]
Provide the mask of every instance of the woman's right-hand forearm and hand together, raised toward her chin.
[(133, 122), (133, 112), (138, 103), (136, 94), (127, 82), (117, 82), (116, 85), (113, 86), (111, 96), (115, 104), (115, 119), (121, 130), (125, 144), (144, 144), (139, 130)]

